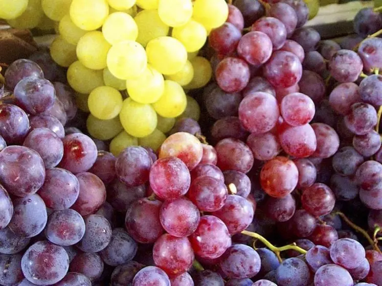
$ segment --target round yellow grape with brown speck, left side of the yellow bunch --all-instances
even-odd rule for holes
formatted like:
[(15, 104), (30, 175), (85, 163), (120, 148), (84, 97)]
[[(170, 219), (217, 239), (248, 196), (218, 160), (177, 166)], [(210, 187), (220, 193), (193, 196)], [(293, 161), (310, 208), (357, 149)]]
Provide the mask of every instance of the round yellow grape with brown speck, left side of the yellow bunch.
[(117, 117), (122, 103), (121, 92), (110, 86), (99, 86), (93, 89), (87, 99), (90, 113), (102, 120)]

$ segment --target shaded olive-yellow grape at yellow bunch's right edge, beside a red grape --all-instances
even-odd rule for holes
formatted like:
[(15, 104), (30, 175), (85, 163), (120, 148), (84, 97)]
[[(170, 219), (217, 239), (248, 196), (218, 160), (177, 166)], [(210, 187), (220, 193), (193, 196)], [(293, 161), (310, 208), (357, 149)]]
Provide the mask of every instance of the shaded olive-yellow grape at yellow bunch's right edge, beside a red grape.
[(190, 62), (194, 68), (194, 78), (185, 86), (185, 89), (200, 88), (207, 85), (212, 77), (211, 63), (204, 57), (195, 57)]

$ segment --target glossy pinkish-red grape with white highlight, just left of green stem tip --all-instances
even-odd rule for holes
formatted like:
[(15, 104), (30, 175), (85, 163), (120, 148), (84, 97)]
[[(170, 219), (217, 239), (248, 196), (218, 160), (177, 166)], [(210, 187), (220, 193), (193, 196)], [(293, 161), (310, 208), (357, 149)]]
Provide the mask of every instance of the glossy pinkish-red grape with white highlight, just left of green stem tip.
[(189, 239), (195, 255), (207, 259), (219, 257), (232, 243), (227, 226), (214, 216), (201, 217)]

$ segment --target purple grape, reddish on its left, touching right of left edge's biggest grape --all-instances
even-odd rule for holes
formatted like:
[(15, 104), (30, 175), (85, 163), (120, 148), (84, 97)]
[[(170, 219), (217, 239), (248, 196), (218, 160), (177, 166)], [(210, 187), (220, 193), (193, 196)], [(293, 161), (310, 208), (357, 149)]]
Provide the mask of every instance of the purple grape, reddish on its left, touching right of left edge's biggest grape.
[(71, 207), (80, 192), (76, 176), (60, 168), (52, 168), (46, 172), (45, 181), (38, 190), (38, 195), (41, 196), (47, 207), (54, 210)]

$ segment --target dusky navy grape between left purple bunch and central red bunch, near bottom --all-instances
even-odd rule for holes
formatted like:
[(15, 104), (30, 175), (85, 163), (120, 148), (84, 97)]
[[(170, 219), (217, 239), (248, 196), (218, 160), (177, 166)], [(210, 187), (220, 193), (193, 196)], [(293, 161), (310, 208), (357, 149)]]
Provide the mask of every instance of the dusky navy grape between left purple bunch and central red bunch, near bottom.
[(107, 265), (118, 266), (131, 261), (137, 254), (137, 250), (137, 243), (128, 233), (123, 228), (115, 228), (111, 234), (110, 243), (100, 252), (100, 255)]

